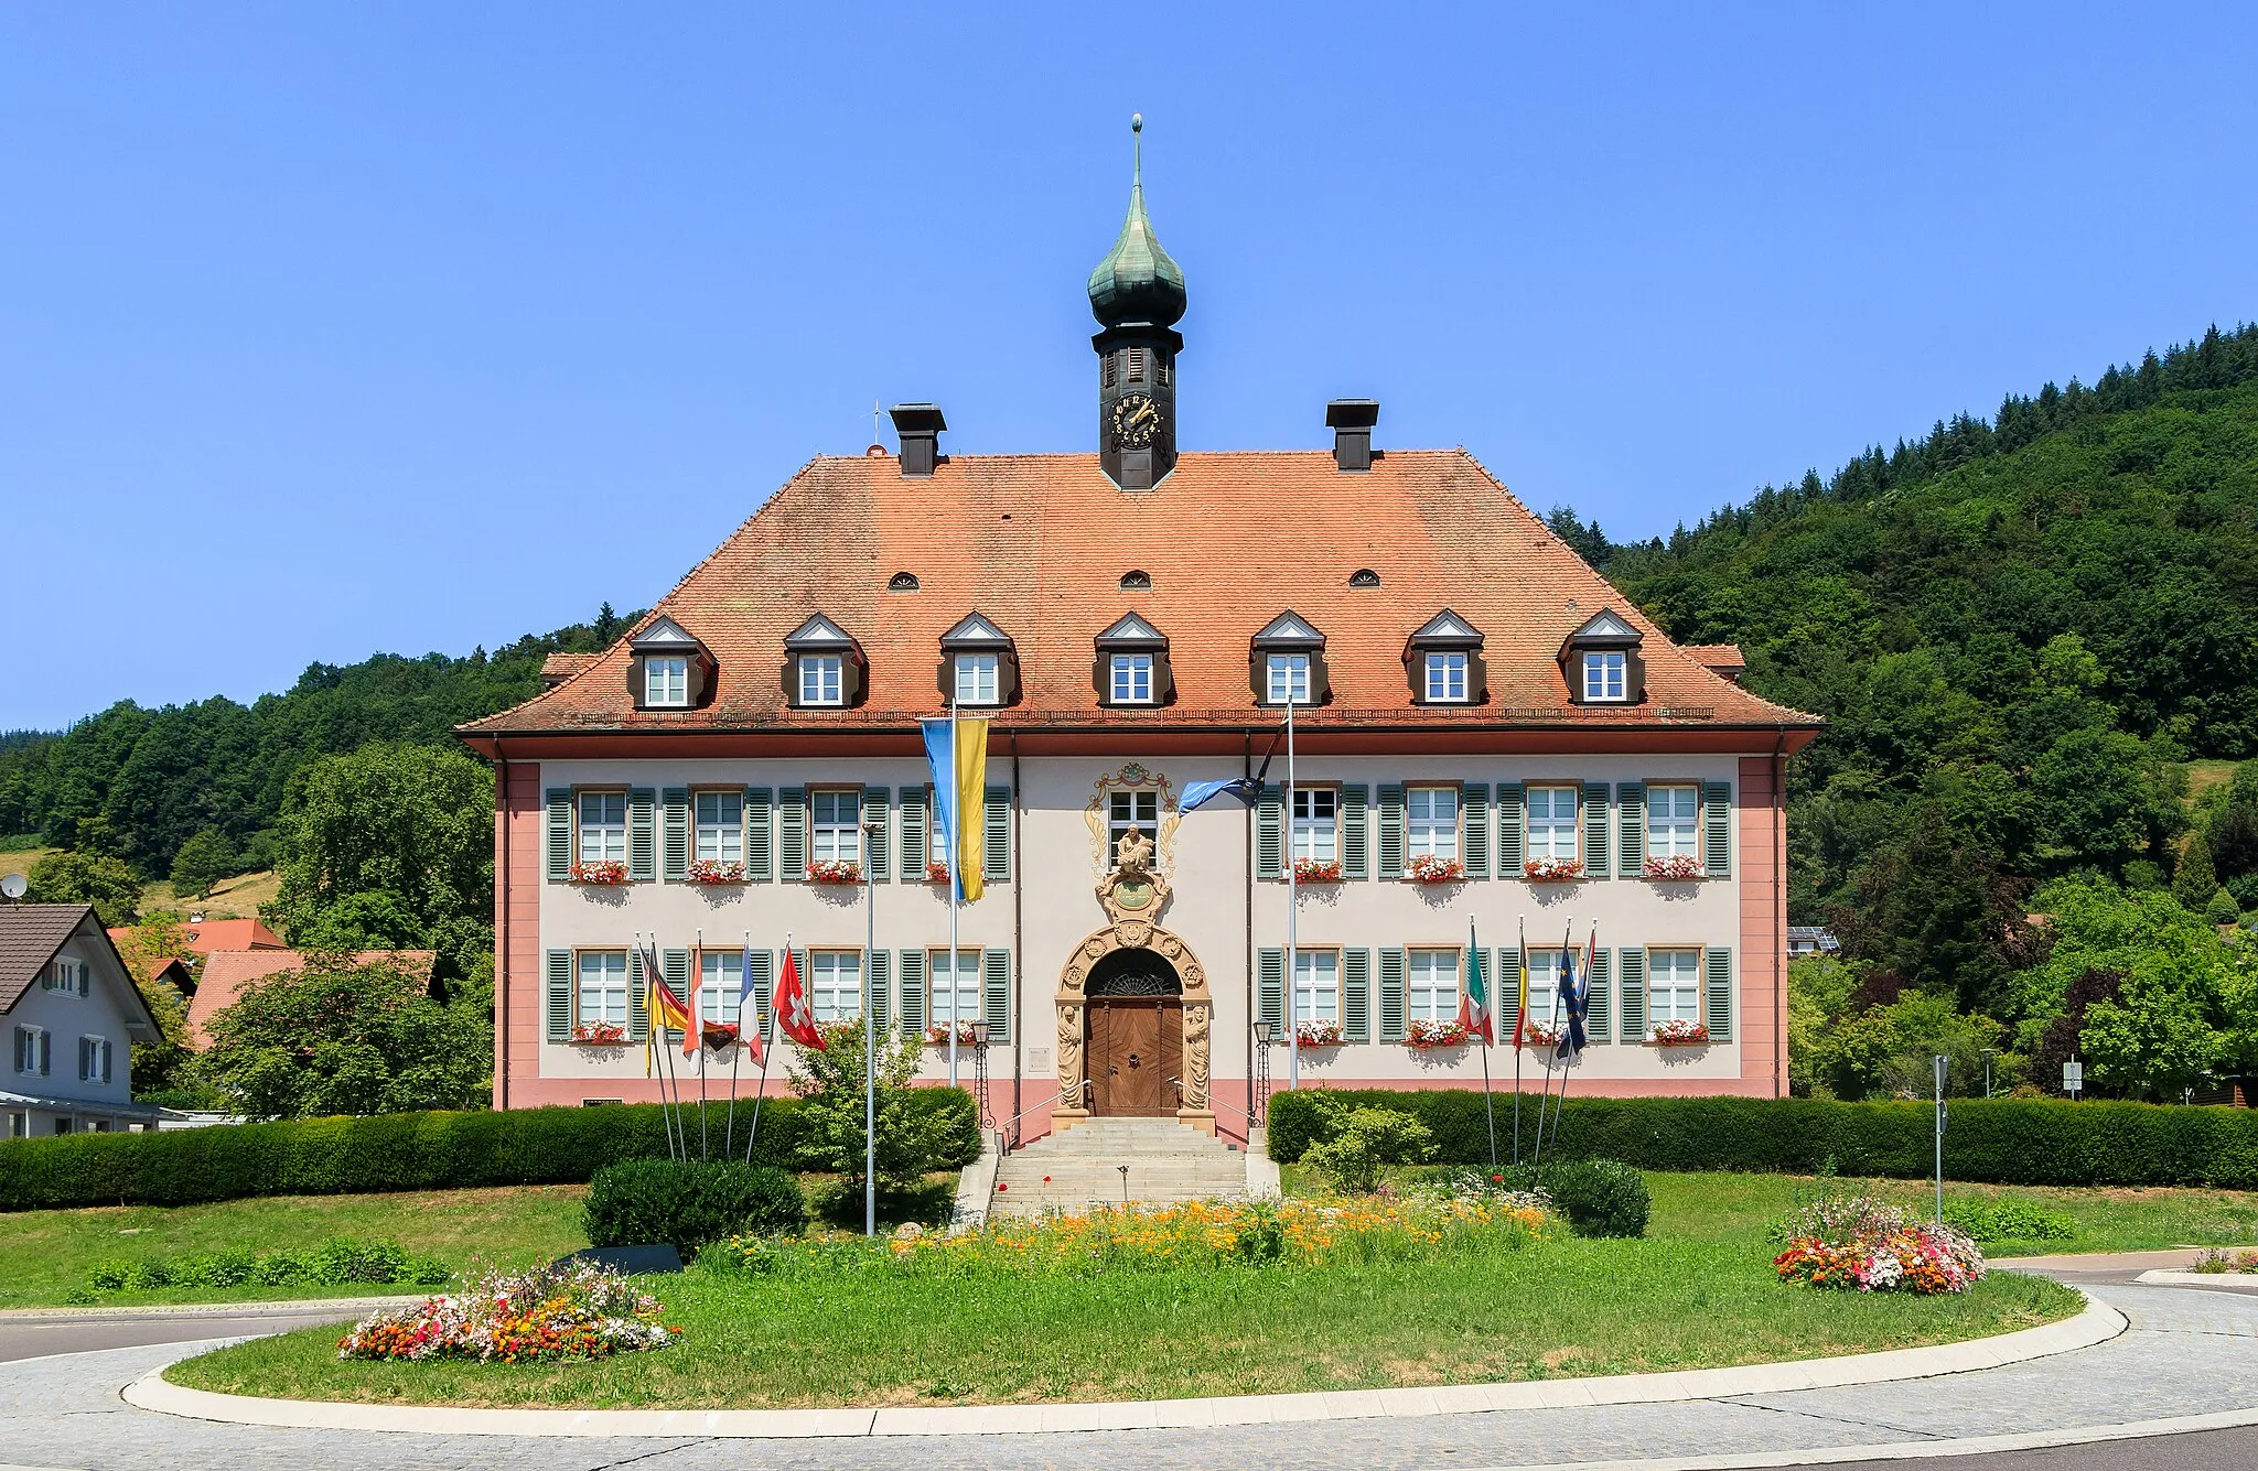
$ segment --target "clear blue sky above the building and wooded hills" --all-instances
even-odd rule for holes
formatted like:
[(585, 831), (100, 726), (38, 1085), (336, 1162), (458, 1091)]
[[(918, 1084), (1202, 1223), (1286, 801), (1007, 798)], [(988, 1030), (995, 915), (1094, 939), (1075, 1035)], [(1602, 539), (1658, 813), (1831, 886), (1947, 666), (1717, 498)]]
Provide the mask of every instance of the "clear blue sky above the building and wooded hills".
[(0, 9), (0, 729), (648, 605), (872, 399), (1671, 523), (2258, 316), (2249, 7)]

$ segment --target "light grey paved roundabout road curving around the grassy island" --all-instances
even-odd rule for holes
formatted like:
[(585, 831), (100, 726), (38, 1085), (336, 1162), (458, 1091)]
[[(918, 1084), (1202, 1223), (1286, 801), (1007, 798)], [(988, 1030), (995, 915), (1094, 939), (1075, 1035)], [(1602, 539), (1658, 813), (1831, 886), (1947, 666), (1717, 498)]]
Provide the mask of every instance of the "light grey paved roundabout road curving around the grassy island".
[[(1748, 1394), (1673, 1406), (1325, 1421), (1253, 1430), (747, 1442), (506, 1439), (226, 1426), (135, 1410), (117, 1388), (181, 1347), (120, 1347), (0, 1374), (0, 1457), (70, 1471), (1021, 1471), (1095, 1460), (1161, 1471), (1488, 1471), (1648, 1457), (1779, 1457), (1829, 1446), (1917, 1446), (2059, 1433), (2258, 1406), (2258, 1300), (2190, 1288), (2095, 1286), (2132, 1329), (2093, 1349), (1894, 1385)], [(226, 1322), (226, 1320), (224, 1320)], [(14, 1327), (14, 1324), (9, 1324)], [(68, 1324), (56, 1324), (68, 1327)], [(176, 1324), (185, 1329), (185, 1324)], [(228, 1322), (260, 1331), (275, 1320)], [(185, 1345), (183, 1345), (185, 1347)], [(1732, 1464), (1709, 1460), (1709, 1466)], [(1777, 1460), (1773, 1460), (1777, 1464)], [(1865, 1464), (1865, 1462), (1861, 1462)], [(1872, 1462), (1906, 1466), (1906, 1460)], [(2258, 1464), (2258, 1430), (1935, 1460), (1937, 1471), (2224, 1471)]]

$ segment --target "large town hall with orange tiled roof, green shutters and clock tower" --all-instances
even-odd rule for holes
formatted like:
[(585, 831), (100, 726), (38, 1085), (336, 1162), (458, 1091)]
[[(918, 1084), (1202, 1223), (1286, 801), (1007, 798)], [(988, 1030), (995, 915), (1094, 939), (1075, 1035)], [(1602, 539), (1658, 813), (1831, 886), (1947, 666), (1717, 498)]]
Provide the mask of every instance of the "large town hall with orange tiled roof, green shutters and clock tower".
[[(1671, 643), (1463, 449), (1386, 449), (1375, 402), (1325, 404), (1330, 447), (1179, 449), (1185, 278), (1143, 180), (1088, 300), (1091, 453), (951, 456), (901, 406), (899, 453), (811, 460), (625, 638), (463, 726), (499, 774), (495, 1106), (659, 1096), (646, 941), (711, 1022), (786, 943), (817, 1018), (978, 1022), (960, 1076), (1021, 1137), (1242, 1139), (1292, 1065), (1479, 1087), (1470, 966), (1511, 995), (1526, 961), (1544, 1022), (1565, 945), (1576, 1092), (1784, 1094), (1782, 776), (1818, 717)], [(989, 722), (955, 950), (919, 736), (951, 702)]]

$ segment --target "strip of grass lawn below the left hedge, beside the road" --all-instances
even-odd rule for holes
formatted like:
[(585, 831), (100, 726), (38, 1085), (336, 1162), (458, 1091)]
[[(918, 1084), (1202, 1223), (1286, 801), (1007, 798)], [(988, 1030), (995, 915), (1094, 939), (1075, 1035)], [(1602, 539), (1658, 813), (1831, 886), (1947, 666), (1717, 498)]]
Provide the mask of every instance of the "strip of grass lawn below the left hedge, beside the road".
[[(86, 1286), (97, 1261), (176, 1257), (246, 1248), (300, 1250), (325, 1236), (391, 1239), (418, 1257), (463, 1270), (483, 1263), (528, 1266), (587, 1245), (580, 1232), (585, 1184), (404, 1191), (397, 1196), (269, 1196), (178, 1207), (93, 1207), (0, 1214), (0, 1309), (61, 1304)], [(400, 1286), (339, 1288), (163, 1288), (104, 1293), (104, 1304), (253, 1302), (275, 1297), (359, 1297), (413, 1293)]]

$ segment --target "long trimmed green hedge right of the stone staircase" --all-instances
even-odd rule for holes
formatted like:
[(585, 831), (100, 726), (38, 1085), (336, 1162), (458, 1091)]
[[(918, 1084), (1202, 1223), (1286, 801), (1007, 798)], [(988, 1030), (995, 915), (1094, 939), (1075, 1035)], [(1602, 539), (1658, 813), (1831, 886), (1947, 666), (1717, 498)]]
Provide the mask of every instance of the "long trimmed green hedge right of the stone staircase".
[[(1465, 1090), (1339, 1090), (1353, 1108), (1416, 1115), (1436, 1162), (1490, 1157), (1481, 1094)], [(1992, 1184), (2211, 1184), (2258, 1189), (2258, 1108), (2064, 1103), (2053, 1099), (1946, 1099), (1944, 1175)], [(1310, 1094), (1280, 1092), (1269, 1108), (1269, 1153), (1301, 1160), (1325, 1128)], [(1522, 1106), (1535, 1130), (1535, 1099)], [(1511, 1148), (1513, 1094), (1497, 1096), (1497, 1148)], [(1524, 1148), (1526, 1153), (1526, 1148)], [(1560, 1157), (1621, 1160), (1639, 1169), (1813, 1173), (1829, 1160), (1845, 1175), (1928, 1175), (1935, 1166), (1931, 1103), (1827, 1103), (1815, 1099), (1578, 1099), (1560, 1117)]]

